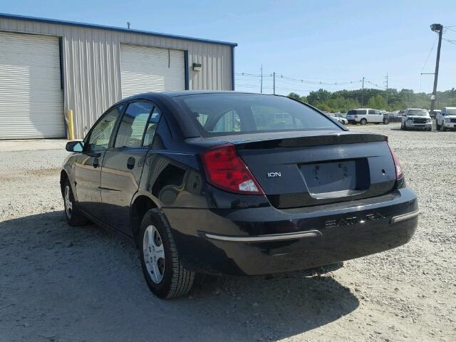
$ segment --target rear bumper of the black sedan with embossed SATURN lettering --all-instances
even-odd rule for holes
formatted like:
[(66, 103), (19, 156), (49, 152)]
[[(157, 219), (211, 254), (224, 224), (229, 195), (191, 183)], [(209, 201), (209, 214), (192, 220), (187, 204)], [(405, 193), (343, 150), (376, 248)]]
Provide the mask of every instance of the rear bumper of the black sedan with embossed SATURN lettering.
[(185, 267), (210, 274), (273, 274), (363, 257), (407, 243), (415, 193), (279, 210), (163, 209)]

